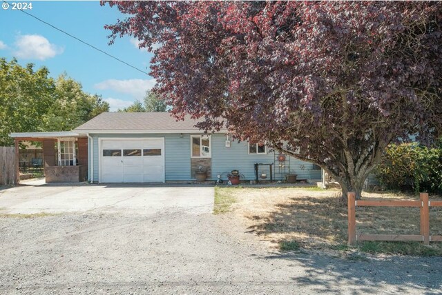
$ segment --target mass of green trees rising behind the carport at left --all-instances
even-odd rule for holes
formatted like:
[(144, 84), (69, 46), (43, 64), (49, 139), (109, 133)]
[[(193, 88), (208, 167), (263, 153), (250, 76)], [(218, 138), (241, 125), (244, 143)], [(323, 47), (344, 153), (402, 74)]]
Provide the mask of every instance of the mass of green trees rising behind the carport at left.
[(14, 143), (11, 132), (72, 130), (108, 110), (101, 96), (66, 74), (55, 81), (45, 67), (0, 59), (0, 145)]

